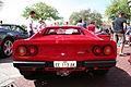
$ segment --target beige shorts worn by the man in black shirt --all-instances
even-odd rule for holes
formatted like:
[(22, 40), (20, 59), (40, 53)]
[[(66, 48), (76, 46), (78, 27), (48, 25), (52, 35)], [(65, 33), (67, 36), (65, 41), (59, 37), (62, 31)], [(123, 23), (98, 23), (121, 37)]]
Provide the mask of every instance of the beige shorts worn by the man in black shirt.
[(116, 42), (124, 44), (126, 42), (126, 35), (119, 34), (119, 33), (114, 33), (114, 40)]

